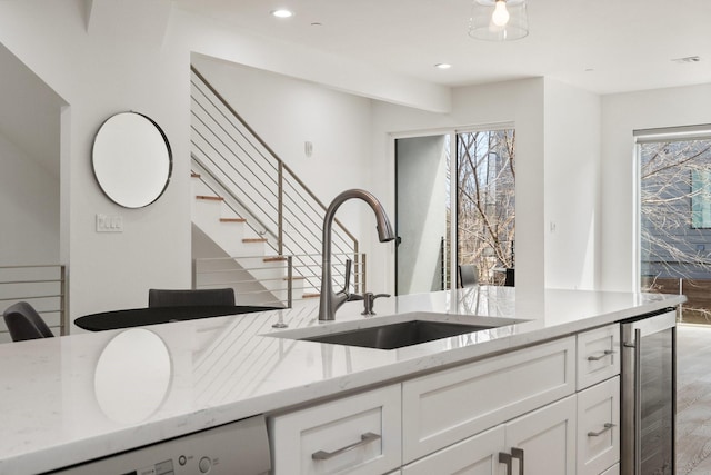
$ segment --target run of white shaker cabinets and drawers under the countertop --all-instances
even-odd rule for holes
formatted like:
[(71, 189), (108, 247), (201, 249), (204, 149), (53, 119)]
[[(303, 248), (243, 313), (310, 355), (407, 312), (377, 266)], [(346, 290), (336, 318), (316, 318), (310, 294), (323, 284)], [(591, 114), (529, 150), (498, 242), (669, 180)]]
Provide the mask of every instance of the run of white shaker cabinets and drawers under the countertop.
[(614, 475), (619, 339), (610, 325), (272, 416), (273, 474)]

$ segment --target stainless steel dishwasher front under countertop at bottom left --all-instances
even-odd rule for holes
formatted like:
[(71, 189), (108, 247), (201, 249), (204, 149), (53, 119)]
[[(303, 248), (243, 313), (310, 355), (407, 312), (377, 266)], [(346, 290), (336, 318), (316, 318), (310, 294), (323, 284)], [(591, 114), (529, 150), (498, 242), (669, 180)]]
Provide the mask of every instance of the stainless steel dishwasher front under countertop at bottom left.
[(159, 442), (52, 475), (262, 475), (271, 469), (263, 416)]

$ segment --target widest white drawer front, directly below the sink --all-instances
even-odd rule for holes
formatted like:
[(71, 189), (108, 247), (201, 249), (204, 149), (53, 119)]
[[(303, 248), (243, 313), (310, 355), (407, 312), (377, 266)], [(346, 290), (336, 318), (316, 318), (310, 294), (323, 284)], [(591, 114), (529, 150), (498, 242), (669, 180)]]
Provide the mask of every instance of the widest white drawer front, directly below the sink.
[(403, 463), (575, 389), (575, 338), (561, 338), (402, 384)]

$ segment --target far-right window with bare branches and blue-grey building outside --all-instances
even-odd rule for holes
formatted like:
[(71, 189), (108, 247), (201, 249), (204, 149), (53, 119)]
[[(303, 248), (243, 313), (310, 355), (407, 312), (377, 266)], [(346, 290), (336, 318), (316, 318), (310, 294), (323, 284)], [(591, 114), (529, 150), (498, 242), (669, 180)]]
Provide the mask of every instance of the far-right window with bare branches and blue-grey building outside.
[(641, 289), (684, 294), (681, 321), (711, 324), (711, 129), (637, 141)]

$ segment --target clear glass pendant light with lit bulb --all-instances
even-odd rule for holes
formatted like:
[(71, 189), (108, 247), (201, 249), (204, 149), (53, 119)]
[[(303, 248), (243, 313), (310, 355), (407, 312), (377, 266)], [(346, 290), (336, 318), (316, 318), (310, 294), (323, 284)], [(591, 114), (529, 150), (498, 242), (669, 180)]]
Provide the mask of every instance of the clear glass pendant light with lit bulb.
[(473, 0), (469, 36), (478, 40), (513, 41), (529, 34), (525, 0)]

